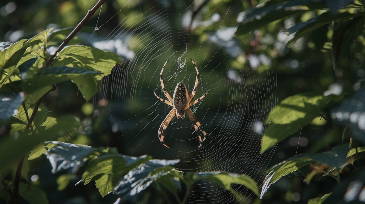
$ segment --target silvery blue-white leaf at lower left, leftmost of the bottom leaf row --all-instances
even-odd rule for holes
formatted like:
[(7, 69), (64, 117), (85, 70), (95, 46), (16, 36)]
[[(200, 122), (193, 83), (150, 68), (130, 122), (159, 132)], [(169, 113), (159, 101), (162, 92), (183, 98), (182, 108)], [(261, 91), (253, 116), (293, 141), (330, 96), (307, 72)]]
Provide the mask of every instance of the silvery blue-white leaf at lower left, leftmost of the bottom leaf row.
[(47, 147), (50, 144), (53, 147), (47, 149), (46, 155), (51, 163), (52, 173), (79, 165), (90, 159), (90, 155), (100, 154), (102, 150), (102, 148), (92, 148), (87, 145), (76, 145), (59, 141), (46, 142)]

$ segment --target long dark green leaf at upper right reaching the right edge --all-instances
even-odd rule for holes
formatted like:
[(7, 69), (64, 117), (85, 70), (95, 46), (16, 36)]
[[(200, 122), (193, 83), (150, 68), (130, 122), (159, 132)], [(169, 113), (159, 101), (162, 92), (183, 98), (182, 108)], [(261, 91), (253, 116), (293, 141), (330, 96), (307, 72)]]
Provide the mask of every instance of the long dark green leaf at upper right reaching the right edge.
[(365, 13), (357, 13), (357, 14), (347, 13), (347, 12), (333, 13), (333, 12), (327, 11), (311, 20), (308, 20), (306, 22), (303, 22), (303, 23), (294, 25), (291, 28), (288, 28), (286, 31), (289, 34), (295, 32), (293, 39), (291, 39), (288, 42), (288, 44), (289, 45), (293, 44), (300, 37), (308, 34), (309, 32), (312, 32), (314, 29), (317, 29), (328, 23), (331, 23), (332, 21), (338, 21), (338, 20), (343, 20), (343, 19), (350, 20), (353, 17), (364, 16), (364, 15), (365, 15)]

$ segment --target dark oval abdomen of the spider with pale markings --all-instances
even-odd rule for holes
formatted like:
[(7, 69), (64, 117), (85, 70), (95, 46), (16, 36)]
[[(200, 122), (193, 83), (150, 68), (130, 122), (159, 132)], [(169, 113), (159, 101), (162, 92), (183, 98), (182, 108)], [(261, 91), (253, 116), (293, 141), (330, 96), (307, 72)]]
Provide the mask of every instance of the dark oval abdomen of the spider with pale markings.
[(178, 83), (172, 97), (174, 108), (177, 111), (177, 116), (184, 117), (184, 110), (188, 107), (188, 98), (189, 94), (184, 82)]

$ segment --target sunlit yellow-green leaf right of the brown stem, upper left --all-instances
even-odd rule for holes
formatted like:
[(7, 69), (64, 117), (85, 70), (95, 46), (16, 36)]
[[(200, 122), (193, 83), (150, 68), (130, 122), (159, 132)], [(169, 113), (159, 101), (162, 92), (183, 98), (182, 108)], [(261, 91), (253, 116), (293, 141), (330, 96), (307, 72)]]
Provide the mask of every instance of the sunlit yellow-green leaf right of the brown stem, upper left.
[(57, 53), (57, 60), (53, 61), (52, 66), (82, 67), (90, 71), (100, 72), (95, 76), (95, 79), (99, 81), (104, 76), (109, 75), (114, 65), (120, 62), (115, 53), (89, 46), (71, 45)]

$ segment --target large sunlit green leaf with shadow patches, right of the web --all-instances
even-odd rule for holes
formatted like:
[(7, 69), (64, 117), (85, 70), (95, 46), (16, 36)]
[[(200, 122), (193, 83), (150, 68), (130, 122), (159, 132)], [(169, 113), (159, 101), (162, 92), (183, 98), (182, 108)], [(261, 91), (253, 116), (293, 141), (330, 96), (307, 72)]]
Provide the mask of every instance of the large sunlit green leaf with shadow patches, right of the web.
[(270, 124), (262, 136), (260, 153), (310, 124), (319, 116), (321, 110), (337, 97), (304, 93), (281, 101), (270, 111), (266, 119), (265, 123)]

